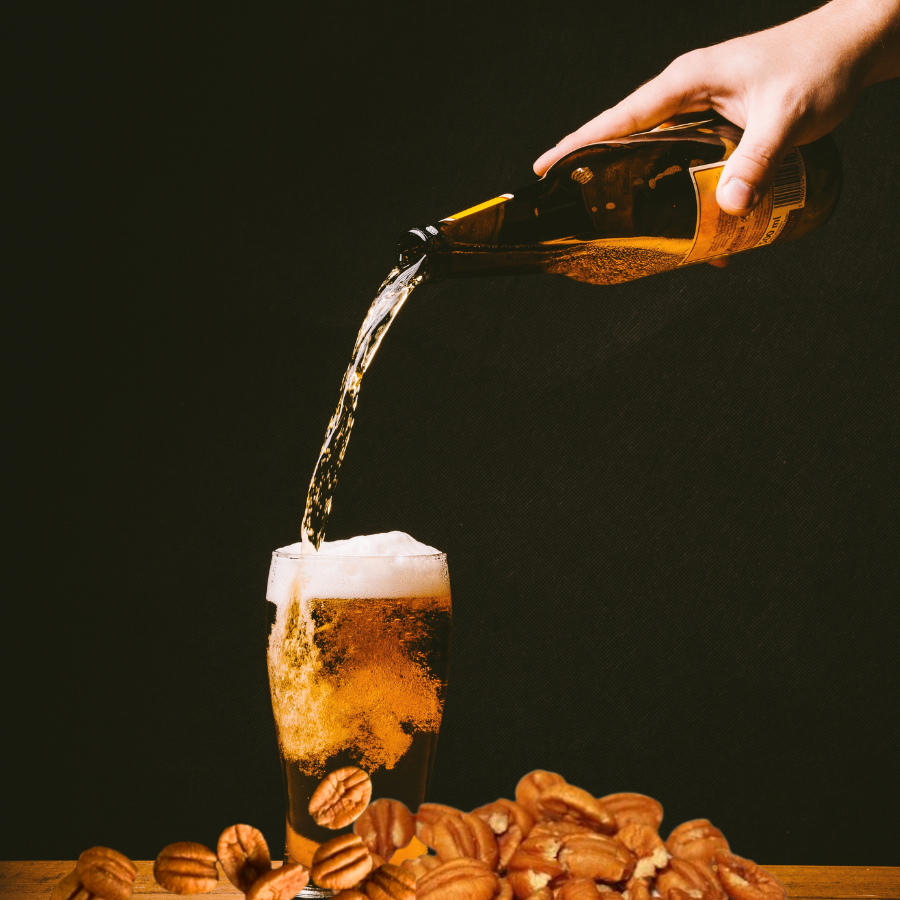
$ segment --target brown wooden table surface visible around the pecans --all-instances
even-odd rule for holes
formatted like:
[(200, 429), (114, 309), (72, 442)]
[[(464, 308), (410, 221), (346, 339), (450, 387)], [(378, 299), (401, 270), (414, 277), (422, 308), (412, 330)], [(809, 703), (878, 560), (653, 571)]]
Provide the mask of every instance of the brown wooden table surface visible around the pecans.
[[(173, 900), (153, 880), (153, 862), (137, 862), (135, 896)], [(0, 900), (46, 900), (56, 883), (75, 868), (74, 861), (0, 862)], [(789, 897), (803, 900), (900, 900), (900, 866), (764, 866), (781, 879)], [(241, 897), (220, 877), (208, 897)]]

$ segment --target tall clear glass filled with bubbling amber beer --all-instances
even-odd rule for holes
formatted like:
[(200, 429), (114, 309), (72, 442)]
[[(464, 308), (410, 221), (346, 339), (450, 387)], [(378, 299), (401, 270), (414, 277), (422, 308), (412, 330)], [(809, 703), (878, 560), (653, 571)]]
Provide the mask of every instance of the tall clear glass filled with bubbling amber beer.
[[(308, 805), (322, 778), (358, 766), (372, 799), (413, 812), (428, 790), (447, 686), (450, 577), (443, 553), (272, 554), (269, 688), (284, 783), (286, 862), (310, 866), (341, 831)], [(415, 838), (393, 862), (425, 852)], [(301, 897), (328, 897), (310, 885)]]

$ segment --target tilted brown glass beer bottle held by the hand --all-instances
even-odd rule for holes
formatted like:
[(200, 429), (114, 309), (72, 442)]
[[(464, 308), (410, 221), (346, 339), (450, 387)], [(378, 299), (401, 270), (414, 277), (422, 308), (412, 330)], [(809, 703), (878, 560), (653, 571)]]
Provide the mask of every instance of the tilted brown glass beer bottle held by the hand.
[(830, 135), (793, 148), (749, 215), (719, 209), (716, 186), (741, 134), (711, 116), (581, 147), (521, 190), (410, 229), (397, 248), (400, 265), (425, 255), (433, 281), (559, 273), (613, 284), (822, 225), (841, 189)]

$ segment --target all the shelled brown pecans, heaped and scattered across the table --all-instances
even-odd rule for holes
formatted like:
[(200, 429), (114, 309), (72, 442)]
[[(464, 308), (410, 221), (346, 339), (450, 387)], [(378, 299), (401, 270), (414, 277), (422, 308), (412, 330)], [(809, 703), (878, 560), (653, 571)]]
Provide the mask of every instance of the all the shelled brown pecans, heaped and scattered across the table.
[[(536, 770), (515, 800), (470, 813), (423, 803), (413, 815), (397, 800), (370, 803), (372, 782), (348, 766), (330, 773), (309, 803), (326, 828), (353, 824), (322, 844), (312, 868), (272, 868), (262, 834), (227, 828), (216, 852), (192, 842), (170, 844), (153, 867), (177, 894), (211, 891), (218, 861), (247, 900), (289, 900), (309, 883), (334, 900), (787, 900), (773, 875), (735, 856), (706, 819), (659, 835), (662, 806), (643, 794), (594, 797), (561, 775)], [(418, 837), (433, 853), (388, 862)], [(115, 850), (94, 847), (57, 885), (51, 900), (129, 900), (136, 869)]]

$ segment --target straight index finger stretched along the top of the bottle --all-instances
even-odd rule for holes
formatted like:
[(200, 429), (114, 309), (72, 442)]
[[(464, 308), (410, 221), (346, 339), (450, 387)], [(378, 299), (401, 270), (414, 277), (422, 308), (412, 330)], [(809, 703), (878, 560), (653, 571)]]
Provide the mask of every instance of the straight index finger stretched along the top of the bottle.
[(585, 144), (649, 131), (679, 113), (709, 109), (709, 92), (696, 75), (698, 67), (683, 62), (684, 59), (679, 57), (656, 78), (566, 135), (552, 150), (538, 157), (535, 173), (543, 175), (558, 159)]

